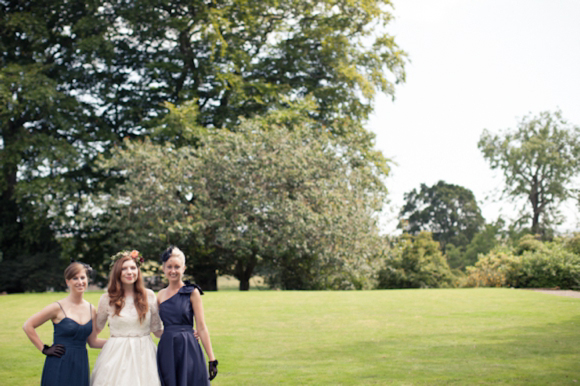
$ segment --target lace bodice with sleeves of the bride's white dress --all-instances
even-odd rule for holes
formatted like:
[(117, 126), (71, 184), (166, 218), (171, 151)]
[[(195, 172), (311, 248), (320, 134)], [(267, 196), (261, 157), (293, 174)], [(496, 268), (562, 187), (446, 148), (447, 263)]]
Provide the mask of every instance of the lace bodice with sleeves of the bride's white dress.
[(113, 338), (146, 336), (151, 332), (163, 329), (159, 318), (157, 299), (151, 290), (147, 290), (147, 302), (149, 303), (149, 311), (141, 323), (132, 297), (125, 298), (125, 306), (119, 315), (115, 315), (115, 307), (109, 305), (109, 294), (103, 294), (97, 310), (97, 328), (102, 330), (109, 320), (109, 329)]

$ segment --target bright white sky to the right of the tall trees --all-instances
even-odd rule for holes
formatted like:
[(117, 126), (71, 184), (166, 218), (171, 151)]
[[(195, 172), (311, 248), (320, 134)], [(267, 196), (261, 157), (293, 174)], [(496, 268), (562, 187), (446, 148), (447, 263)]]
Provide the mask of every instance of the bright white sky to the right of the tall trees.
[[(403, 195), (439, 180), (470, 189), (486, 221), (513, 220), (500, 171), (477, 148), (484, 129), (562, 111), (580, 126), (580, 0), (393, 0), (388, 31), (408, 53), (395, 100), (378, 95), (367, 128), (393, 160), (382, 228), (394, 232)], [(573, 202), (561, 232), (580, 230)]]

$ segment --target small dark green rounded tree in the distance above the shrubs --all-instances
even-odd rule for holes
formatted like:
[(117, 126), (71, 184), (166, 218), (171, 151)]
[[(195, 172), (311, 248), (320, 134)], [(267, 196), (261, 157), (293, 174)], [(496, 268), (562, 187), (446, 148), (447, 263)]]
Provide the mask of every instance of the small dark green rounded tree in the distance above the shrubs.
[(484, 224), (475, 196), (464, 187), (439, 181), (404, 197), (400, 227), (413, 235), (431, 232), (443, 250), (447, 244), (467, 245)]

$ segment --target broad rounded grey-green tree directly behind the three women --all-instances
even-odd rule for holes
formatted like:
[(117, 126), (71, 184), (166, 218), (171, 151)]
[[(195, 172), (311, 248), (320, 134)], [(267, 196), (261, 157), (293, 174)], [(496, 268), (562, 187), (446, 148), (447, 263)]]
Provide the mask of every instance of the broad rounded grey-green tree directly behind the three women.
[(381, 253), (380, 173), (372, 163), (352, 167), (344, 145), (306, 122), (293, 130), (271, 123), (244, 120), (198, 149), (126, 141), (102, 163), (124, 183), (87, 213), (102, 212), (96, 223), (114, 228), (117, 244), (195, 242), (208, 255), (194, 257), (194, 275), (195, 264), (213, 264), (242, 290), (258, 266), (282, 286), (306, 266), (302, 288), (370, 288)]

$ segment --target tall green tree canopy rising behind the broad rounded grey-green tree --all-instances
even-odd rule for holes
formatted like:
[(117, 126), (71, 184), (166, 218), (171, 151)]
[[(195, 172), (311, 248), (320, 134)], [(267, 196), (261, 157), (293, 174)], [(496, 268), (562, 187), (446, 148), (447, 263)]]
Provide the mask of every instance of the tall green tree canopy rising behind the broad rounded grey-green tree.
[[(389, 1), (0, 5), (3, 271), (25, 255), (60, 271), (51, 262), (84, 255), (87, 240), (96, 254), (113, 252), (103, 239), (110, 235), (81, 240), (75, 220), (88, 195), (123, 177), (100, 174), (95, 159), (143, 135), (197, 146), (197, 134), (157, 130), (167, 102), (194, 104), (197, 127), (236, 130), (240, 117), (264, 116), (309, 95), (316, 107), (308, 114), (320, 133), (350, 138), (353, 151), (388, 171), (363, 123), (375, 93), (392, 95), (405, 79), (405, 53), (386, 32)], [(3, 289), (30, 288), (17, 276)]]

